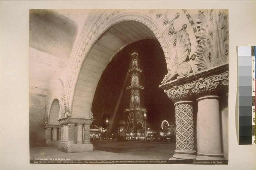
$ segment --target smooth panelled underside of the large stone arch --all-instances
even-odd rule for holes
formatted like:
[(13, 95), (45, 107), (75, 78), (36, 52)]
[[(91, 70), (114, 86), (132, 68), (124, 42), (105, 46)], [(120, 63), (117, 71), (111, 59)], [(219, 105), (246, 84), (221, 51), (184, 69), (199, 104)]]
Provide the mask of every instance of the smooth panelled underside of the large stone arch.
[(72, 117), (90, 118), (94, 92), (104, 69), (117, 52), (142, 39), (156, 37), (147, 26), (136, 21), (117, 23), (101, 35), (81, 67), (74, 92)]

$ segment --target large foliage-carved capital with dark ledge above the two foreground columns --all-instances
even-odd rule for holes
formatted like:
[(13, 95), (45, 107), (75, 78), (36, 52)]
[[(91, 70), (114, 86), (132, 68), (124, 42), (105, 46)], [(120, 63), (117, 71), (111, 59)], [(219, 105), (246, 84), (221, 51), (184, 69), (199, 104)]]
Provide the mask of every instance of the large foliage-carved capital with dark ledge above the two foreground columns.
[[(174, 103), (206, 95), (215, 95), (221, 87), (228, 85), (229, 74), (227, 70), (228, 64), (225, 64), (197, 72), (182, 81), (174, 80), (159, 87), (165, 89), (165, 93)], [(187, 83), (183, 84), (183, 82)]]

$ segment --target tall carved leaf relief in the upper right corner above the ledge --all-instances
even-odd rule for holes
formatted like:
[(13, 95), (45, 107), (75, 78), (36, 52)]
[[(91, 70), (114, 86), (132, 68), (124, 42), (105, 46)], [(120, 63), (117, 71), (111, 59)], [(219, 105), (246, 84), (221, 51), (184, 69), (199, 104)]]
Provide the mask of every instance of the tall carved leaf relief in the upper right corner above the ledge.
[(199, 71), (228, 62), (229, 36), (227, 10), (200, 10), (194, 17)]

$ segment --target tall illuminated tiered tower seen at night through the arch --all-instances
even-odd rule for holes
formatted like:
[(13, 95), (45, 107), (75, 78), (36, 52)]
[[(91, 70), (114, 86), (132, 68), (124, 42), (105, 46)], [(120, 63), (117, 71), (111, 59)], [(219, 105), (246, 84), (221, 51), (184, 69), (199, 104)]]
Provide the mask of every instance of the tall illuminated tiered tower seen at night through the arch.
[(143, 89), (139, 85), (139, 75), (142, 70), (138, 69), (138, 53), (132, 53), (132, 68), (128, 71), (131, 76), (131, 86), (126, 90), (131, 91), (130, 108), (125, 109), (125, 115), (128, 115), (127, 119), (127, 138), (133, 140), (134, 138), (144, 137), (144, 121), (142, 114), (146, 111), (141, 108), (140, 105), (140, 90)]

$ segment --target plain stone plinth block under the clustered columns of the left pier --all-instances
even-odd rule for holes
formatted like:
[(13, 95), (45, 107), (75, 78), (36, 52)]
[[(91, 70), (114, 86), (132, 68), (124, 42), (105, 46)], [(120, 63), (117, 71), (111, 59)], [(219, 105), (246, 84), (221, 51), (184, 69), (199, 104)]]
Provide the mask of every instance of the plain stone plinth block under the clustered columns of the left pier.
[(59, 143), (58, 150), (66, 153), (89, 152), (93, 151), (93, 145), (90, 144), (63, 144)]

